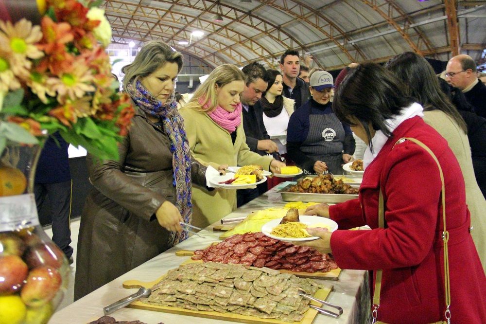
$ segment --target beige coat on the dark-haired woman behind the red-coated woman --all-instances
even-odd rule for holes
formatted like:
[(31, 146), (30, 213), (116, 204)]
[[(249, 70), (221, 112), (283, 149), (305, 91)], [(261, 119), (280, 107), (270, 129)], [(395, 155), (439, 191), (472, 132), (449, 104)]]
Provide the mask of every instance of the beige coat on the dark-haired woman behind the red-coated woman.
[(476, 245), (479, 258), (486, 267), (486, 200), (479, 189), (472, 168), (471, 149), (468, 136), (444, 112), (440, 110), (424, 111), (424, 121), (447, 140), (449, 147), (461, 166), (466, 183), (466, 203), (471, 213), (472, 239)]

